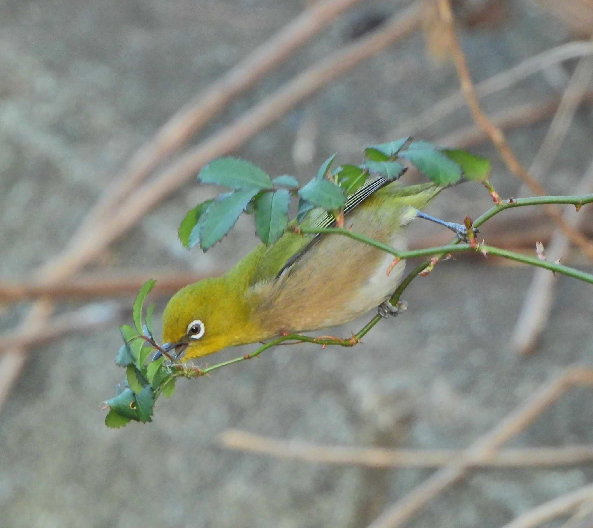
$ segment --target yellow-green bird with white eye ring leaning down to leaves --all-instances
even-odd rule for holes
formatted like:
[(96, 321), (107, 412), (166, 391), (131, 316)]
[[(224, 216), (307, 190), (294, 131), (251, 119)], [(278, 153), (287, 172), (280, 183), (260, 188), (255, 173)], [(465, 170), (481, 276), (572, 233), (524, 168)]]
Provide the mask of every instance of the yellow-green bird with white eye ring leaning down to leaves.
[[(405, 226), (417, 216), (464, 236), (465, 226), (419, 212), (442, 188), (369, 180), (348, 197), (346, 226), (399, 250), (406, 249)], [(301, 226), (319, 226), (327, 217), (311, 210)], [(163, 314), (163, 347), (191, 359), (285, 332), (341, 325), (378, 306), (393, 308), (387, 300), (405, 261), (387, 274), (392, 261), (393, 255), (346, 236), (287, 231), (269, 247), (258, 245), (222, 277), (200, 280), (171, 297)]]

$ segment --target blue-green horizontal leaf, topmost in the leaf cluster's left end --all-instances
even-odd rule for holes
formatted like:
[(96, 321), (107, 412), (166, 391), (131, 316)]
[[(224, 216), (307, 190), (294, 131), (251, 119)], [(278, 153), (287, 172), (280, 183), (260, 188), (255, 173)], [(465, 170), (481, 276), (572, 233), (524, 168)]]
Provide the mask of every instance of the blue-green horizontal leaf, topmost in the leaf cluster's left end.
[(197, 177), (202, 183), (225, 185), (233, 189), (271, 189), (270, 177), (253, 163), (238, 158), (218, 158), (204, 167)]

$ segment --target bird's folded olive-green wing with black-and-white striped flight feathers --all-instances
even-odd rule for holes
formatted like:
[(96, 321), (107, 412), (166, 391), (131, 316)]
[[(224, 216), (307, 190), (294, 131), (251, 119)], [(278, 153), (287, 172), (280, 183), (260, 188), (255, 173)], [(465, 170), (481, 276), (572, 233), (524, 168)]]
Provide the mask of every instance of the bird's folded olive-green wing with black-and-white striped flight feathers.
[[(350, 194), (344, 205), (344, 214), (352, 212), (369, 196), (376, 193), (393, 180), (374, 178), (368, 180), (361, 188)], [(336, 223), (336, 219), (323, 209), (311, 210), (302, 222), (303, 226), (315, 228), (329, 228)], [(294, 222), (296, 225), (296, 222)], [(282, 273), (294, 265), (320, 239), (320, 235), (298, 235), (287, 231), (278, 241), (267, 248), (257, 264), (251, 284), (260, 281), (277, 279)]]

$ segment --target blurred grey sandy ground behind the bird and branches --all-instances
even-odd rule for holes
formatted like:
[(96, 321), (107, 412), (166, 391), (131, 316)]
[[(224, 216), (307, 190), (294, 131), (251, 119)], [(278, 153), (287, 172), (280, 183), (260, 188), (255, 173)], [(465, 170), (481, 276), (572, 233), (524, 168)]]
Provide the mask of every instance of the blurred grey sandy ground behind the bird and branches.
[[(474, 78), (487, 78), (566, 41), (532, 4), (512, 2), (499, 28), (463, 33)], [(244, 57), (301, 8), (271, 0), (6, 0), (0, 2), (0, 269), (30, 276), (57, 254), (129, 156), (181, 104)], [(389, 2), (385, 11), (394, 9)], [(348, 18), (295, 54), (200, 137), (219, 129), (345, 42)], [(570, 66), (570, 65), (569, 65)], [(557, 74), (558, 72), (556, 72)], [(556, 94), (542, 75), (485, 101), (489, 111)], [(434, 66), (416, 35), (366, 61), (236, 152), (270, 174), (296, 174), (291, 155), (304, 119), (317, 129), (314, 163), (330, 153), (359, 159), (365, 144), (454, 91), (449, 66)], [(431, 128), (439, 137), (468, 123), (458, 111)], [(509, 134), (529, 162), (547, 123)], [(589, 164), (591, 119), (575, 121), (546, 180), (568, 193)], [(495, 159), (489, 148), (480, 148)], [(562, 177), (555, 174), (562, 170)], [(495, 161), (504, 196), (519, 185)], [(152, 211), (93, 267), (214, 273), (255, 244), (241, 219), (223, 244), (184, 251), (178, 223), (212, 188), (191, 183)], [(477, 187), (439, 197), (432, 212), (460, 219), (489, 207)], [(438, 229), (419, 226), (413, 233)], [(432, 230), (432, 231), (431, 231)], [(483, 229), (487, 237), (487, 226)], [(455, 448), (493, 427), (537, 387), (575, 362), (591, 364), (590, 288), (560, 278), (535, 356), (508, 349), (531, 271), (449, 261), (404, 296), (409, 310), (383, 321), (364, 347), (279, 348), (260, 361), (178, 383), (152, 424), (107, 430), (100, 402), (123, 371), (113, 364), (116, 325), (39, 347), (2, 409), (0, 517), (4, 527), (364, 527), (431, 470), (361, 469), (276, 460), (222, 449), (225, 429), (319, 443)], [(158, 305), (162, 310), (164, 301)], [(1, 313), (17, 324), (24, 303)], [(126, 318), (129, 321), (129, 318)], [(363, 321), (364, 322), (364, 321)], [(347, 335), (359, 323), (336, 329)], [(219, 359), (252, 347), (218, 354)], [(591, 391), (575, 389), (511, 446), (593, 441)], [(496, 527), (530, 507), (591, 482), (591, 465), (476, 471), (410, 526)], [(550, 526), (556, 526), (551, 525)]]

